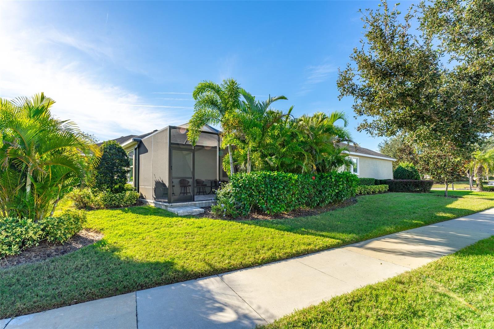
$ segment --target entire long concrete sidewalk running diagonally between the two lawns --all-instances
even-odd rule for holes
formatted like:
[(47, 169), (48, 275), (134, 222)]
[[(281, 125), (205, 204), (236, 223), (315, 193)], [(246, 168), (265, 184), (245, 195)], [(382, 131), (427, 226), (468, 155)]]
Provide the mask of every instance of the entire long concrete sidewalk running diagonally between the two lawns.
[(252, 328), (494, 235), (494, 208), (346, 247), (0, 320), (14, 328)]

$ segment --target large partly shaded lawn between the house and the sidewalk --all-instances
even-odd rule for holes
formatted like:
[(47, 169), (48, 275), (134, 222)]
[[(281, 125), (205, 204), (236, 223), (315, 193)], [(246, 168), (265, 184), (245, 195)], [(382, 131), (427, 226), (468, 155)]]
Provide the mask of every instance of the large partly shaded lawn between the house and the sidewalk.
[(494, 206), (494, 193), (462, 198), (387, 193), (316, 216), (229, 221), (177, 217), (149, 206), (88, 212), (104, 239), (73, 253), (0, 270), (0, 318), (205, 277)]

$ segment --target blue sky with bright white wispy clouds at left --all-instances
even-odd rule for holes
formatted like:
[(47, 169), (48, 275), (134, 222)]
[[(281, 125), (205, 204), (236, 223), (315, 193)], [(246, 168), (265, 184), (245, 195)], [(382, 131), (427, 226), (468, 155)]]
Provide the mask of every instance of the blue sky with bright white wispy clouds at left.
[[(0, 96), (44, 91), (53, 113), (100, 140), (181, 124), (202, 80), (233, 77), (294, 114), (344, 111), (336, 77), (359, 46), (359, 8), (377, 1), (0, 3)], [(405, 9), (410, 2), (402, 1)]]

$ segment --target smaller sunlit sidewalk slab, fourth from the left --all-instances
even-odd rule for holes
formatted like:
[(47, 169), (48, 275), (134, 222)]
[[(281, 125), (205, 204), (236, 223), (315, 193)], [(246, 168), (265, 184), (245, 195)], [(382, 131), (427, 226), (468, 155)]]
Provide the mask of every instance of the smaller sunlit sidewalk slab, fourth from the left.
[(295, 259), (355, 287), (367, 286), (410, 270), (405, 266), (343, 248), (325, 250)]

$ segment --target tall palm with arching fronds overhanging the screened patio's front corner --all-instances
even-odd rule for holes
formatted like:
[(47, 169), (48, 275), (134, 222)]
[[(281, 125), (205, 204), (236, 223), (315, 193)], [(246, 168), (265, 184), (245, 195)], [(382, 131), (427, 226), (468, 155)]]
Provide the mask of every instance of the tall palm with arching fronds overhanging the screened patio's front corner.
[[(194, 104), (194, 114), (189, 121), (187, 137), (192, 145), (196, 145), (201, 129), (205, 124), (220, 124), (224, 137), (222, 144), (228, 146), (230, 174), (235, 173), (235, 167), (232, 144), (228, 142), (228, 137), (234, 132), (235, 125), (228, 122), (234, 120), (239, 111), (240, 96), (240, 84), (234, 79), (223, 80), (221, 84), (203, 81), (192, 92), (192, 97), (196, 103)], [(222, 145), (222, 147), (224, 146)]]

